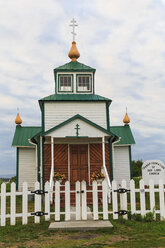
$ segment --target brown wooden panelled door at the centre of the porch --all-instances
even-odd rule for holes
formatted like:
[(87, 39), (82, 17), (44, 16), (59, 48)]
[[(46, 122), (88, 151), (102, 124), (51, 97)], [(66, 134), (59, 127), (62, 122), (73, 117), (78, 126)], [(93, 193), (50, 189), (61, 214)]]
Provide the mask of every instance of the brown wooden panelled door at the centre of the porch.
[(88, 145), (70, 145), (70, 183), (88, 182)]

